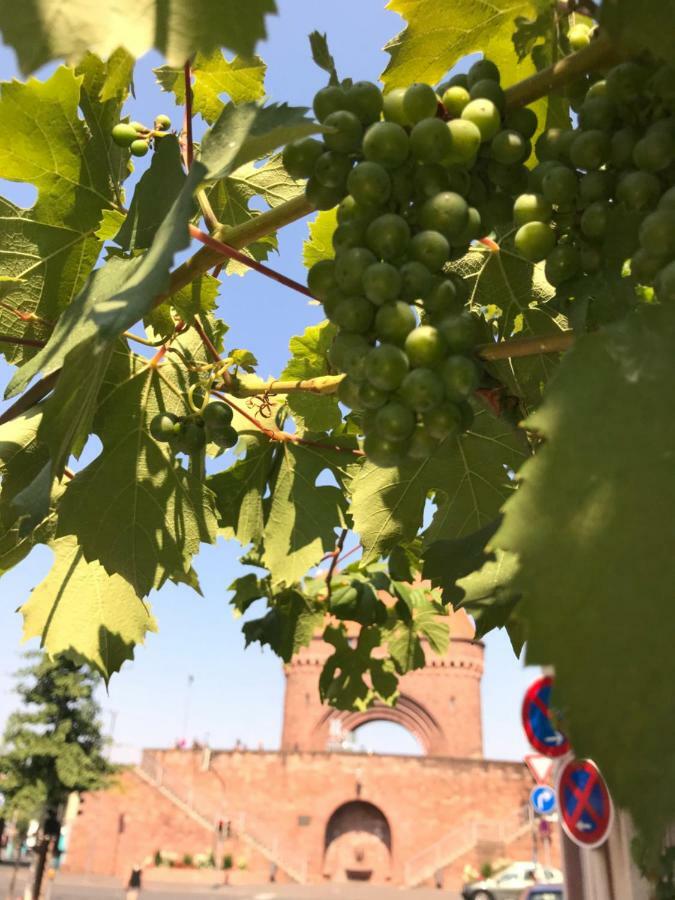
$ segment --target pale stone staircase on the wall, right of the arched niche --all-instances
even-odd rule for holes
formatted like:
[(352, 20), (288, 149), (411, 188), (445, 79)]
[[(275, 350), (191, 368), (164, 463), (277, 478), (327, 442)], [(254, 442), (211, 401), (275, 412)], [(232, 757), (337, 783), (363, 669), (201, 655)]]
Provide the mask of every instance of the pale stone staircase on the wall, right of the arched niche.
[(530, 829), (529, 809), (522, 807), (497, 822), (465, 822), (448, 831), (438, 841), (413, 856), (404, 867), (408, 887), (423, 884), (439, 870), (451, 866), (481, 844), (505, 848), (527, 834)]

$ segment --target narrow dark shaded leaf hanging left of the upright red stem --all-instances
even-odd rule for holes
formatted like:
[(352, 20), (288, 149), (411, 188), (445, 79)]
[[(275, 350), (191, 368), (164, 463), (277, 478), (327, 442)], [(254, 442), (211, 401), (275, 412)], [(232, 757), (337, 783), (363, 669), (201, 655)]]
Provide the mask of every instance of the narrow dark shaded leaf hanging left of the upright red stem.
[(124, 224), (114, 237), (127, 251), (147, 250), (185, 184), (178, 139), (158, 138), (150, 168), (136, 185)]

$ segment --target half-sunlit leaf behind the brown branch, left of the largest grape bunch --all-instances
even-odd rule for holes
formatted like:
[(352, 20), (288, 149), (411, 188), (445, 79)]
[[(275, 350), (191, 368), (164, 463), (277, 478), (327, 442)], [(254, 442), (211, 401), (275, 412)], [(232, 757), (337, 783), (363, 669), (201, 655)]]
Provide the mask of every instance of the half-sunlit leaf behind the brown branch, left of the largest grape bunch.
[[(218, 221), (225, 228), (236, 228), (260, 215), (260, 211), (250, 206), (254, 197), (265, 201), (270, 209), (286, 203), (304, 192), (304, 182), (291, 178), (276, 155), (264, 165), (246, 163), (226, 178), (218, 181), (209, 191), (209, 202)], [(227, 230), (222, 234), (227, 241)], [(276, 232), (258, 238), (248, 244), (242, 252), (258, 261), (269, 257), (277, 249)], [(245, 275), (250, 268), (234, 259), (224, 260), (223, 269), (228, 275)]]

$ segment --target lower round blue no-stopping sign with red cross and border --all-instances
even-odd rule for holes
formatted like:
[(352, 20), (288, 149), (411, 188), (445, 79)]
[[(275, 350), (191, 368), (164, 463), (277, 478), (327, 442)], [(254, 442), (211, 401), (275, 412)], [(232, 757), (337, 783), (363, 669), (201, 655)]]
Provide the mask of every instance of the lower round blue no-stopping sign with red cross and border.
[(560, 770), (556, 784), (560, 821), (580, 847), (599, 847), (607, 840), (614, 808), (607, 785), (590, 759), (572, 759)]

